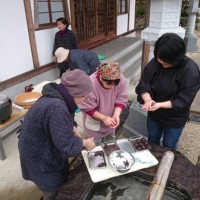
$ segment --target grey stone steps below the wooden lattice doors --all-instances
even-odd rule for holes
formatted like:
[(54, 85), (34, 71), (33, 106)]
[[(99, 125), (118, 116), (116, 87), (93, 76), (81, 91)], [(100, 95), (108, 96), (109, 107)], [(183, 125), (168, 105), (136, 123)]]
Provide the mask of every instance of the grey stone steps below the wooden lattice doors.
[(98, 55), (104, 55), (101, 63), (117, 61), (128, 84), (138, 80), (141, 72), (143, 40), (135, 37), (119, 37), (91, 49)]

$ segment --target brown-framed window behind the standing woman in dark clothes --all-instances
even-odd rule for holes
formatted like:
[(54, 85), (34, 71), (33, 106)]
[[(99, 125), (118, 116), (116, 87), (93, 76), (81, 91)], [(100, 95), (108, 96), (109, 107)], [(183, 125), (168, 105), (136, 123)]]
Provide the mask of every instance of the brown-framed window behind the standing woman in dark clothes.
[(63, 0), (37, 0), (35, 4), (35, 28), (55, 25), (56, 19), (66, 16)]

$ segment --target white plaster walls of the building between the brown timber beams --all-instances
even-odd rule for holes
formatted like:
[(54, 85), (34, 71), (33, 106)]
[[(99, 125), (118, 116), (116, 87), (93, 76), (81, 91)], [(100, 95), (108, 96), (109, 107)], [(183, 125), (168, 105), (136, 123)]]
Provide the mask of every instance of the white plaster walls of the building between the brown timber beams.
[[(70, 0), (67, 0), (67, 2), (68, 8), (70, 9)], [(30, 3), (32, 18), (34, 19), (34, 0), (30, 0)], [(128, 14), (117, 16), (117, 36), (134, 29), (135, 0), (130, 0), (130, 5), (129, 25)], [(0, 1), (0, 26), (1, 84), (2, 81), (34, 69), (24, 0)], [(71, 29), (71, 27), (69, 28)], [(35, 31), (35, 41), (40, 66), (49, 64), (53, 61), (52, 49), (55, 33), (57, 31), (58, 29), (56, 27)], [(29, 84), (35, 85), (44, 80), (52, 81), (58, 77), (59, 70), (56, 68), (0, 91), (0, 93), (4, 93), (13, 99), (16, 94), (24, 92), (24, 87)]]

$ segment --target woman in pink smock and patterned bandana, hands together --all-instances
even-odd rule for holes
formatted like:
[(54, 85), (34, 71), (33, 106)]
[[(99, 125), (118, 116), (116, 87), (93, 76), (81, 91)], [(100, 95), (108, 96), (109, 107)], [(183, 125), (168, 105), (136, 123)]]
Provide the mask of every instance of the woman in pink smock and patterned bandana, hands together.
[(117, 62), (101, 64), (90, 76), (93, 91), (79, 104), (86, 137), (96, 145), (115, 140), (120, 114), (128, 103), (128, 87)]

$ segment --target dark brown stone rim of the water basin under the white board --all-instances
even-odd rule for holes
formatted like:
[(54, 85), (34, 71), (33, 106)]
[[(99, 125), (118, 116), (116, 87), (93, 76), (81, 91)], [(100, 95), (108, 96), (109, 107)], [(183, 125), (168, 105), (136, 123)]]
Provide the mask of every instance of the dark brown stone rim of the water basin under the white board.
[[(160, 160), (168, 148), (152, 145), (151, 153)], [(185, 195), (184, 199), (200, 199), (200, 166), (192, 164), (183, 154), (173, 151), (175, 159), (168, 177), (166, 188), (176, 189)], [(130, 173), (136, 178), (151, 184), (156, 173), (157, 166)], [(126, 176), (126, 175), (125, 175)], [(95, 183), (98, 184), (98, 183)], [(83, 200), (87, 199), (89, 191), (94, 186), (86, 165), (81, 157), (76, 161), (71, 170), (69, 179), (60, 188), (57, 200)]]

